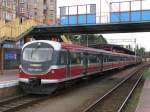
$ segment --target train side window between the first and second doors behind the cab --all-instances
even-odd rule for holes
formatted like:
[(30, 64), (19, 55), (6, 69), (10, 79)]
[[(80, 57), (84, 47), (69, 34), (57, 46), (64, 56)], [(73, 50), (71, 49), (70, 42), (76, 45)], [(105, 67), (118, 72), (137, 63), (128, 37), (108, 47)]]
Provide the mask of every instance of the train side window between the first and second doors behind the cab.
[(71, 52), (71, 64), (81, 64), (81, 53)]

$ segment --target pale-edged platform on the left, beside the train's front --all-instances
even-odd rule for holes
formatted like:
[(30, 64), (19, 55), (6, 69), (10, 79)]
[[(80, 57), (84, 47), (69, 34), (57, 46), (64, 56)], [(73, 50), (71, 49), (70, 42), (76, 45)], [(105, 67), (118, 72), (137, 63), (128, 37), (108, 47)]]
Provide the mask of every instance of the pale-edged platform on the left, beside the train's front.
[(16, 86), (18, 69), (15, 70), (4, 70), (3, 74), (0, 74), (0, 89)]

